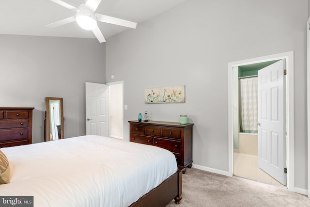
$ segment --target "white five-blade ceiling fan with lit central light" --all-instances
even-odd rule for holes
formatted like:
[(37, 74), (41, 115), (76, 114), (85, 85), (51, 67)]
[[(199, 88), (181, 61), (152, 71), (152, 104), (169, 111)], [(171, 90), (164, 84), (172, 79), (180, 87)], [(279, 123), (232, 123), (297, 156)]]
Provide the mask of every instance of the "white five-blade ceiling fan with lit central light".
[(67, 9), (75, 11), (77, 14), (75, 16), (70, 16), (68, 18), (48, 24), (47, 27), (53, 28), (53, 27), (58, 27), (64, 24), (77, 21), (78, 25), (84, 30), (93, 31), (93, 34), (97, 37), (99, 42), (106, 42), (106, 39), (104, 38), (102, 32), (100, 31), (97, 25), (97, 21), (120, 25), (124, 27), (129, 27), (133, 29), (135, 29), (137, 26), (137, 23), (135, 22), (95, 13), (101, 0), (85, 0), (86, 2), (79, 5), (78, 8), (62, 0), (51, 0), (51, 1), (58, 3), (59, 5), (62, 5), (63, 7)]

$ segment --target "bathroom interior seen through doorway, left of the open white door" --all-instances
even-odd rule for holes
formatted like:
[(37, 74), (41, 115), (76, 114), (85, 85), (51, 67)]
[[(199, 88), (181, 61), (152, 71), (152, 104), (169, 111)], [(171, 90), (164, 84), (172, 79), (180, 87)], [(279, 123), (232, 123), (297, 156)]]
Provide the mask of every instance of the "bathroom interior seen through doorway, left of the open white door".
[[(266, 146), (260, 144), (263, 141), (259, 143), (261, 139), (258, 137), (258, 129), (260, 127), (258, 126), (258, 103), (260, 102), (258, 100), (260, 97), (258, 93), (260, 85), (258, 82), (258, 73), (261, 70), (265, 70), (264, 68), (267, 68), (267, 66), (273, 67), (273, 65), (276, 65), (279, 61), (280, 60), (273, 60), (256, 64), (240, 65), (233, 68), (233, 73), (235, 74), (233, 81), (238, 82), (234, 84), (238, 85), (238, 87), (235, 88), (238, 92), (234, 93), (238, 96), (234, 96), (233, 98), (234, 100), (236, 99), (234, 102), (238, 103), (236, 108), (238, 108), (239, 114), (238, 117), (236, 117), (236, 121), (233, 123), (234, 129), (238, 128), (238, 133), (235, 133), (236, 136), (233, 138), (233, 175), (273, 185), (281, 185), (281, 183), (285, 185), (286, 178), (283, 180), (280, 175), (278, 178), (281, 180), (280, 183), (276, 177), (274, 178), (268, 174), (268, 169), (263, 169), (259, 163), (260, 152), (266, 151), (265, 149), (259, 150), (259, 146), (263, 148), (266, 148)], [(282, 105), (284, 105), (284, 103), (282, 103)], [(279, 157), (283, 159), (284, 156), (285, 155)]]

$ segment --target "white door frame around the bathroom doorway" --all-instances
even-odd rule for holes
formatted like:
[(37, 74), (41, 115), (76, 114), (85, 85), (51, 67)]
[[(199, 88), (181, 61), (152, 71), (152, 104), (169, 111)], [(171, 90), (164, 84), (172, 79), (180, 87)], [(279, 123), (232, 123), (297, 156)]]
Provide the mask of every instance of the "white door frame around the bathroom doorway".
[(294, 51), (228, 63), (228, 173), (233, 176), (233, 67), (286, 59), (287, 188), (294, 191)]

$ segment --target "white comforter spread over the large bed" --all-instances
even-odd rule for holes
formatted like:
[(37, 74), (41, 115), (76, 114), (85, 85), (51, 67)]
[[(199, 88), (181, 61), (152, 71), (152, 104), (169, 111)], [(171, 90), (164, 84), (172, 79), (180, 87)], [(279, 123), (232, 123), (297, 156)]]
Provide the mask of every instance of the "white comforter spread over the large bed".
[(177, 171), (168, 150), (101, 136), (1, 148), (11, 182), (0, 195), (34, 207), (127, 207)]

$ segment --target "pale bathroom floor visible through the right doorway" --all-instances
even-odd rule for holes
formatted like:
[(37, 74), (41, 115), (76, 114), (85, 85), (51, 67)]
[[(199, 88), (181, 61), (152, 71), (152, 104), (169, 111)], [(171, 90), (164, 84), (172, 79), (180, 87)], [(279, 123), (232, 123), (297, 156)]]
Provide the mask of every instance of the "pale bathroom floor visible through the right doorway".
[(233, 175), (283, 187), (281, 183), (258, 167), (258, 159), (254, 155), (234, 152)]

